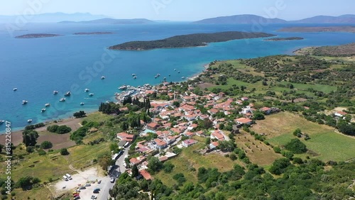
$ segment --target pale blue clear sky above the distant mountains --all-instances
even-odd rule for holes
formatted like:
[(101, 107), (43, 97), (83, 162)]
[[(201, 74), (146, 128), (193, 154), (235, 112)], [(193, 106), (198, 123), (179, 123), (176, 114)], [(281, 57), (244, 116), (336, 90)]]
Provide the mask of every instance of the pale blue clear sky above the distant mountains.
[[(16, 15), (40, 2), (35, 13), (92, 13), (114, 18), (195, 21), (256, 14), (295, 20), (317, 15), (355, 14), (354, 0), (1, 0), (0, 15)], [(26, 10), (27, 9), (27, 10)]]

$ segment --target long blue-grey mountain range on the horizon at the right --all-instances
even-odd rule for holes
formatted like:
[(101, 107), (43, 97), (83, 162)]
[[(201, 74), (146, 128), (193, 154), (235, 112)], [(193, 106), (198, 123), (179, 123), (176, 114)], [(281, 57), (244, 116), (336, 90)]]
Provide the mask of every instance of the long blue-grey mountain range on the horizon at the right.
[(236, 15), (206, 18), (193, 23), (355, 23), (355, 15), (314, 16), (297, 21), (285, 21), (280, 18), (264, 18), (256, 15)]

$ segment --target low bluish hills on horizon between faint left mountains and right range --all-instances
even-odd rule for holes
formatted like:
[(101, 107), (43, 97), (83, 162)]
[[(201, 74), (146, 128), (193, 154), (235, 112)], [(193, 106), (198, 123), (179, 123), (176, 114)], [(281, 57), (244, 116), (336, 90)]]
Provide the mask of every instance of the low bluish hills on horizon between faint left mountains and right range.
[(154, 23), (154, 21), (150, 21), (146, 18), (132, 18), (132, 19), (100, 18), (92, 21), (60, 21), (60, 23), (143, 24), (143, 23)]

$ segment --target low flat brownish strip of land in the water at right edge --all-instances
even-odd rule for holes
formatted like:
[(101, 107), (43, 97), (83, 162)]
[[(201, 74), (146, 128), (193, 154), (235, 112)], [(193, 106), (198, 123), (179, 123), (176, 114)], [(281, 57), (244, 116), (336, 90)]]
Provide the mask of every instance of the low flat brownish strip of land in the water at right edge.
[(279, 32), (290, 33), (317, 33), (317, 32), (346, 32), (355, 33), (355, 26), (328, 26), (328, 27), (288, 27), (281, 28)]

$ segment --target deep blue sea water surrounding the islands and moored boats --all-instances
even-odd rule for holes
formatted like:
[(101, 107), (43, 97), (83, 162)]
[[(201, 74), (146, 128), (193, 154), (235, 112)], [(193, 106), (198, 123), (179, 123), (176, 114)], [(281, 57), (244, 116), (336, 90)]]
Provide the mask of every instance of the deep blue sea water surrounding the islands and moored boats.
[[(195, 25), (190, 23), (156, 23), (151, 25), (92, 25), (33, 23), (16, 31), (55, 33), (55, 38), (16, 39), (0, 24), (0, 120), (11, 121), (12, 128), (23, 128), (29, 118), (33, 124), (66, 118), (79, 110), (97, 111), (99, 103), (114, 101), (114, 92), (122, 84), (133, 86), (178, 82), (203, 70), (212, 60), (292, 54), (306, 46), (341, 45), (355, 42), (353, 33), (278, 33), (285, 25), (268, 25), (259, 29), (276, 35), (299, 36), (305, 40), (271, 42), (263, 38), (211, 43), (203, 48), (179, 48), (148, 51), (111, 51), (110, 45), (131, 40), (155, 40), (189, 33), (214, 33), (226, 30), (251, 31), (250, 25)], [(298, 26), (290, 25), (287, 26)], [(317, 26), (317, 25), (308, 25)], [(110, 31), (112, 35), (72, 35), (77, 32)], [(103, 60), (104, 59), (104, 60)], [(96, 70), (89, 70), (96, 67)], [(174, 72), (178, 69), (181, 73)], [(138, 79), (132, 79), (131, 74)], [(154, 79), (155, 74), (160, 79)], [(171, 74), (169, 77), (168, 74)], [(104, 75), (106, 79), (100, 77)], [(13, 91), (17, 87), (18, 91)], [(76, 89), (78, 88), (78, 89)], [(94, 96), (84, 92), (90, 89)], [(53, 95), (58, 90), (58, 95)], [(75, 92), (77, 90), (77, 92)], [(60, 103), (66, 91), (72, 96)], [(22, 100), (28, 104), (23, 106)], [(84, 106), (80, 106), (84, 102)], [(40, 113), (44, 104), (47, 111)], [(0, 125), (0, 133), (4, 132)]]

